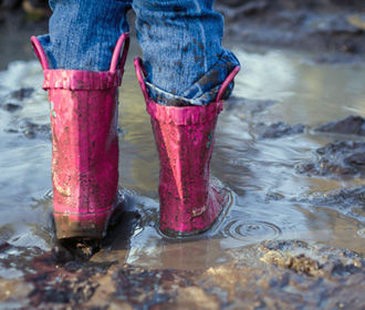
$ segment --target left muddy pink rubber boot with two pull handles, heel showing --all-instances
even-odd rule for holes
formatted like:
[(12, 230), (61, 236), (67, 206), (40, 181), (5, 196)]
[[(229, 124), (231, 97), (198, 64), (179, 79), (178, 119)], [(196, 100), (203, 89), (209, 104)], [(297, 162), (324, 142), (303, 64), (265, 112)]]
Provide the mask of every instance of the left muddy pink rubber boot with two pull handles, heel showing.
[(32, 37), (31, 42), (50, 99), (58, 238), (101, 239), (118, 204), (117, 89), (128, 34), (118, 39), (111, 69), (105, 72), (50, 70), (38, 39)]

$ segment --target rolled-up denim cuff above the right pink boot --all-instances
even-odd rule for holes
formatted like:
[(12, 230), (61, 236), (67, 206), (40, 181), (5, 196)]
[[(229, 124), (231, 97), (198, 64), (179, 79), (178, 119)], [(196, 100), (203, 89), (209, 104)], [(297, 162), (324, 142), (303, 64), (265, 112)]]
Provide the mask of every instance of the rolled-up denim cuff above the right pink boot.
[[(228, 50), (223, 50), (215, 65), (181, 94), (176, 95), (161, 90), (146, 80), (148, 95), (160, 105), (207, 105), (216, 101), (221, 84), (237, 65), (240, 65), (240, 63), (234, 54)], [(231, 82), (222, 95), (223, 100), (231, 95), (233, 86), (234, 83)]]

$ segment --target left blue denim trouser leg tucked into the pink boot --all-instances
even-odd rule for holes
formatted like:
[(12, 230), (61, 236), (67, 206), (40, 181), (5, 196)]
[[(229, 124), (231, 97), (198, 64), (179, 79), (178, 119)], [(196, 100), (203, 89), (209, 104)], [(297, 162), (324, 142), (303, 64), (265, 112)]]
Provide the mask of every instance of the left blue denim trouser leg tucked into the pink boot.
[(131, 1), (51, 0), (50, 34), (39, 37), (52, 69), (107, 71)]

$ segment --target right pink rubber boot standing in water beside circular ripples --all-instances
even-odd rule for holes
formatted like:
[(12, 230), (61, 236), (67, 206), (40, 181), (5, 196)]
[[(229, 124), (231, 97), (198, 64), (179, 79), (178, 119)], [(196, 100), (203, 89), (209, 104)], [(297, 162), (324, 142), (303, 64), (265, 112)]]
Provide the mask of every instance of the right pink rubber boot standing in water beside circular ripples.
[(209, 179), (215, 127), (221, 100), (240, 68), (221, 85), (217, 100), (206, 106), (163, 106), (149, 99), (142, 60), (135, 60), (137, 78), (159, 154), (159, 229), (186, 237), (209, 229), (227, 204), (225, 190)]

